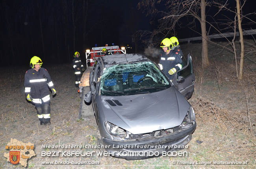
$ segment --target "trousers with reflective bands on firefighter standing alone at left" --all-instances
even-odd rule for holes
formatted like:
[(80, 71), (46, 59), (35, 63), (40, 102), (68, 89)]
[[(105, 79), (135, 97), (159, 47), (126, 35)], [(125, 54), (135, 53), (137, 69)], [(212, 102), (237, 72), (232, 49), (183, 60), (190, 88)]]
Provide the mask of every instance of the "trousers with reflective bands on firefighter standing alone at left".
[(42, 123), (48, 123), (51, 120), (50, 116), (50, 102), (43, 104), (36, 104), (35, 108), (37, 109), (37, 116)]

